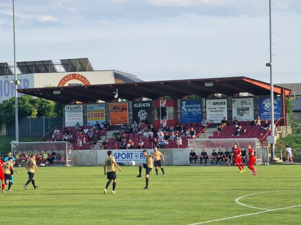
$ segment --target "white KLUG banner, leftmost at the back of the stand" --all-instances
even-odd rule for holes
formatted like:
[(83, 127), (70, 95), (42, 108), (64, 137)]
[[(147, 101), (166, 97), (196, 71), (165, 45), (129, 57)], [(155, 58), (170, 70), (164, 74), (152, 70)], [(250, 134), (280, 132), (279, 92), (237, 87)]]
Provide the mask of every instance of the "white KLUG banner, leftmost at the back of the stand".
[(83, 125), (83, 105), (65, 105), (65, 126), (74, 126), (77, 122)]

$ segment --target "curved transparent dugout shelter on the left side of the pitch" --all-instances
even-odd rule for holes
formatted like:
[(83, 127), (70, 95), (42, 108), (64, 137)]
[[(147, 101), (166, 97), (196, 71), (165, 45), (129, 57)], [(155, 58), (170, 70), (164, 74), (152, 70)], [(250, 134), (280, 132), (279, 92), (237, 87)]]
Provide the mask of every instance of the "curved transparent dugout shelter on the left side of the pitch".
[(54, 152), (60, 151), (61, 159), (59, 161), (63, 162), (63, 157), (66, 151), (66, 166), (74, 165), (74, 152), (73, 147), (68, 141), (47, 141), (47, 142), (11, 142), (12, 144), (12, 155), (15, 156), (18, 151), (19, 154), (23, 151), (26, 151), (31, 154), (31, 151), (34, 154), (38, 155), (39, 151), (41, 151), (42, 155), (47, 151), (48, 154), (51, 154), (51, 150)]

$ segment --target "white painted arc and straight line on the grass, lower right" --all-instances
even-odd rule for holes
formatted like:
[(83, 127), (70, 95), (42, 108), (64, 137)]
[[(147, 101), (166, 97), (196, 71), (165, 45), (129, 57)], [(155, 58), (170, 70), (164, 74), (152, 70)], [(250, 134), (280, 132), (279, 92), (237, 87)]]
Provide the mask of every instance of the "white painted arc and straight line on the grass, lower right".
[[(290, 189), (290, 190), (300, 190), (300, 189)], [(203, 224), (203, 223), (207, 223), (207, 222), (221, 221), (221, 220), (225, 220), (225, 219), (238, 218), (238, 217), (247, 216), (247, 215), (254, 215), (254, 214), (259, 214), (259, 213), (263, 213), (263, 212), (269, 212), (269, 211), (275, 211), (275, 210), (281, 210), (281, 209), (294, 208), (294, 207), (301, 206), (301, 204), (298, 204), (298, 205), (293, 205), (293, 206), (283, 207), (283, 208), (266, 209), (266, 208), (253, 207), (253, 206), (250, 206), (250, 205), (246, 205), (246, 204), (240, 203), (238, 201), (239, 199), (241, 199), (243, 197), (247, 197), (247, 196), (251, 196), (251, 195), (255, 195), (255, 194), (270, 193), (270, 192), (279, 192), (279, 191), (289, 191), (289, 190), (273, 190), (273, 191), (265, 191), (265, 192), (259, 192), (259, 193), (252, 193), (252, 194), (244, 195), (244, 196), (241, 196), (241, 197), (238, 197), (238, 198), (235, 199), (235, 202), (238, 203), (238, 204), (240, 204), (240, 205), (243, 205), (243, 206), (246, 206), (246, 207), (250, 207), (250, 208), (263, 209), (264, 211), (258, 211), (258, 212), (243, 214), (243, 215), (236, 215), (236, 216), (231, 216), (231, 217), (226, 217), (226, 218), (220, 218), (220, 219), (208, 220), (208, 221), (204, 221), (204, 222), (192, 223), (190, 225), (197, 225), (197, 224)]]

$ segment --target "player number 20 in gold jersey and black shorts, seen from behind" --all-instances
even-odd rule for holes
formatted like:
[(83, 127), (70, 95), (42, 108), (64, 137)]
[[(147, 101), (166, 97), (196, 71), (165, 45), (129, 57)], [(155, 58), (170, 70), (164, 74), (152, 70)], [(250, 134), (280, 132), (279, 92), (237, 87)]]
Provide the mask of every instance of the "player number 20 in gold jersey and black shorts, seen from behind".
[[(112, 151), (109, 150), (107, 152), (108, 157), (104, 160), (104, 165), (103, 165), (103, 170), (104, 170), (104, 174), (107, 175), (107, 178), (109, 179), (109, 181), (107, 181), (107, 184), (105, 185), (105, 188), (103, 189), (103, 192), (106, 193), (107, 188), (109, 187), (110, 183), (113, 180), (113, 189), (112, 189), (112, 193), (116, 193), (115, 192), (115, 187), (116, 187), (116, 172), (115, 172), (115, 167), (114, 165), (119, 169), (119, 171), (122, 171), (122, 169), (119, 167), (119, 165), (117, 165), (115, 158), (112, 157)], [(106, 171), (105, 171), (106, 169)]]

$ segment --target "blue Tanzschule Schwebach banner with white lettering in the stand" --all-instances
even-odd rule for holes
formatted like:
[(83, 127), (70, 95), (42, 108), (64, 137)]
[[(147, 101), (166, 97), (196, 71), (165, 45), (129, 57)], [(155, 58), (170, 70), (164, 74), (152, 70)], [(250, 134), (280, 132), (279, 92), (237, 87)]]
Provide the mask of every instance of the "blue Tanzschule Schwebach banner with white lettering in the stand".
[(181, 121), (201, 122), (202, 121), (202, 102), (201, 100), (182, 100), (181, 101)]

